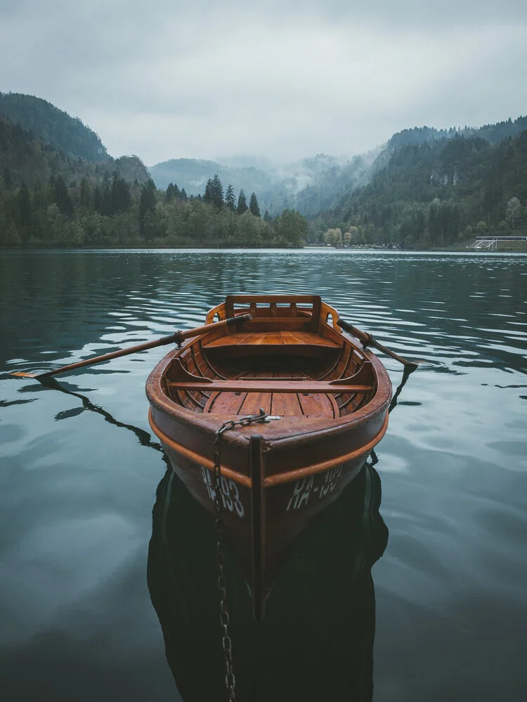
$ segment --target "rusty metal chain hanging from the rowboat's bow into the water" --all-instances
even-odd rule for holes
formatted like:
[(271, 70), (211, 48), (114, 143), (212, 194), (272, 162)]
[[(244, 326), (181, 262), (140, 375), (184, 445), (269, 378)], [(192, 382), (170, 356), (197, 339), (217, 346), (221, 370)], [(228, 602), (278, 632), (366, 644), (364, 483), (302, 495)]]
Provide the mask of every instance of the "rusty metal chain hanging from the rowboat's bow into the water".
[(216, 508), (216, 563), (218, 565), (218, 592), (220, 600), (220, 625), (223, 632), (221, 647), (225, 658), (225, 686), (227, 688), (228, 702), (236, 702), (236, 680), (233, 670), (233, 642), (229, 635), (230, 616), (227, 604), (227, 577), (225, 574), (225, 555), (223, 553), (223, 529), (221, 527), (221, 510), (223, 510), (223, 496), (221, 494), (221, 435), (235, 427), (247, 427), (254, 423), (266, 423), (279, 417), (266, 414), (261, 409), (259, 414), (244, 417), (238, 422), (229, 420), (221, 425), (214, 437), (214, 507)]

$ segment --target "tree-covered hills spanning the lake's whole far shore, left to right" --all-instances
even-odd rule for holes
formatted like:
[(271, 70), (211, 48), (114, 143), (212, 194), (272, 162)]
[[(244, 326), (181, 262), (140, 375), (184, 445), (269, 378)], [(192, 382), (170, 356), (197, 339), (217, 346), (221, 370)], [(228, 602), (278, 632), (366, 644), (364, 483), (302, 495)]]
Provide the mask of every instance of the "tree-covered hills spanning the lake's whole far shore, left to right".
[(304, 159), (282, 173), (276, 191), (296, 193), (298, 210), (286, 197), (272, 218), (266, 199), (259, 203), (260, 192), (247, 198), (240, 180), (247, 176), (248, 192), (255, 182), (267, 187), (256, 168), (233, 161), (221, 171), (224, 190), (219, 175), (204, 178), (219, 164), (167, 161), (163, 177), (176, 168), (188, 180), (197, 168), (202, 192), (188, 194), (186, 180), (158, 190), (141, 159), (108, 157), (93, 131), (46, 100), (0, 93), (2, 111), (1, 246), (427, 249), (527, 229), (527, 117), (481, 128), (406, 129), (382, 150), (346, 162)]

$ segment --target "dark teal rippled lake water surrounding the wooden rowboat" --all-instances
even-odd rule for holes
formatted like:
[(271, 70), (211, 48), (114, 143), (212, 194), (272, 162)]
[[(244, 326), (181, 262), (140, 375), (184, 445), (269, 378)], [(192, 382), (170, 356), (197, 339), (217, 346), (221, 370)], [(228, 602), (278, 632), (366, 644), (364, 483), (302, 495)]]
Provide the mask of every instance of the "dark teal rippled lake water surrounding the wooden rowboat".
[(225, 698), (211, 521), (148, 426), (166, 348), (55, 386), (8, 371), (197, 326), (236, 291), (318, 292), (424, 361), (261, 625), (228, 559), (238, 702), (523, 698), (527, 258), (330, 250), (0, 253), (1, 698)]

